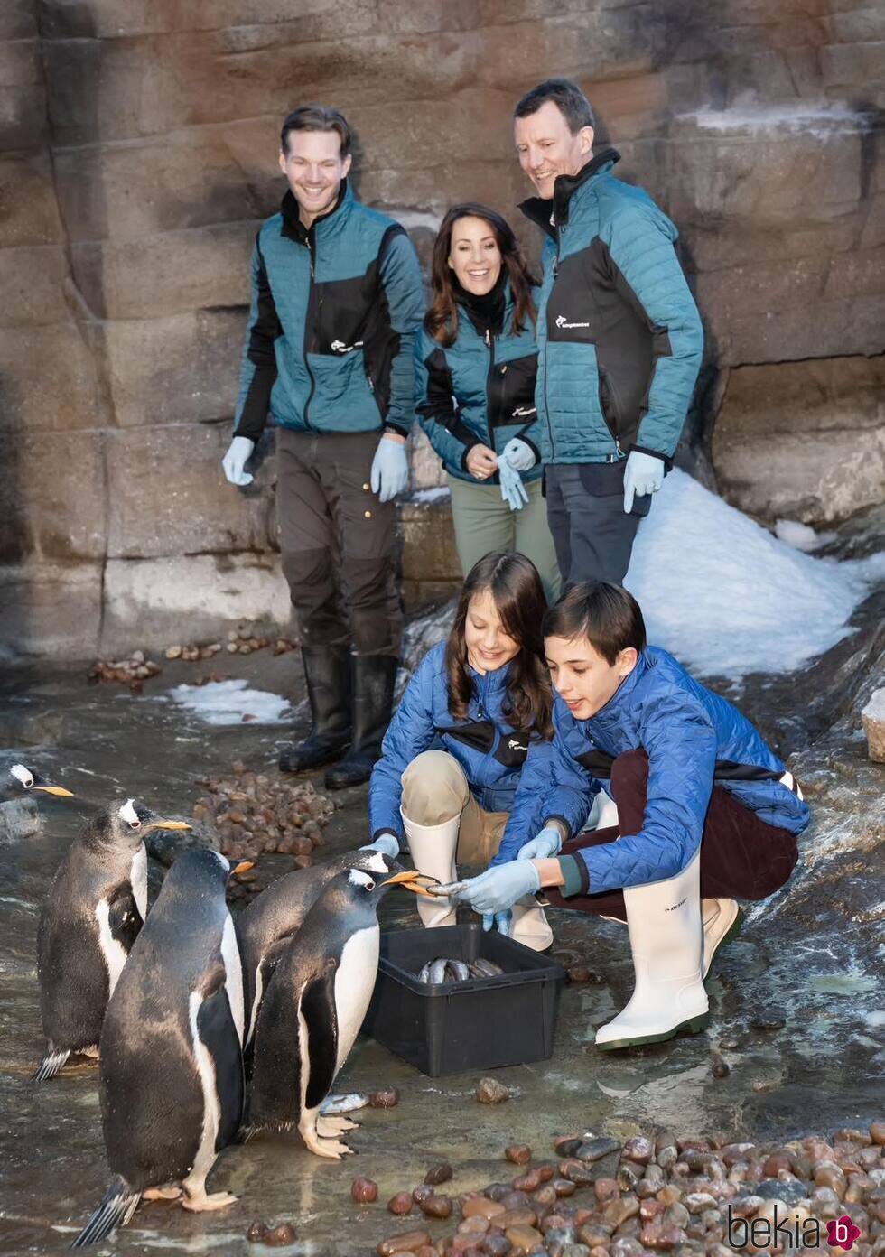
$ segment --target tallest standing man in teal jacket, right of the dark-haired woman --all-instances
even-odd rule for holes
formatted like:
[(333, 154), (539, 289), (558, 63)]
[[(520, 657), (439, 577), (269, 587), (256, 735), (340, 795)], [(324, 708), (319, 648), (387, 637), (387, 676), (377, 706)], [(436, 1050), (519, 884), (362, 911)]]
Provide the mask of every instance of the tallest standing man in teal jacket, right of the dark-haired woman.
[(567, 586), (620, 583), (685, 422), (700, 316), (673, 222), (615, 177), (613, 148), (593, 153), (583, 92), (547, 79), (514, 118), (538, 192), (520, 209), (546, 235), (536, 402), (559, 571)]

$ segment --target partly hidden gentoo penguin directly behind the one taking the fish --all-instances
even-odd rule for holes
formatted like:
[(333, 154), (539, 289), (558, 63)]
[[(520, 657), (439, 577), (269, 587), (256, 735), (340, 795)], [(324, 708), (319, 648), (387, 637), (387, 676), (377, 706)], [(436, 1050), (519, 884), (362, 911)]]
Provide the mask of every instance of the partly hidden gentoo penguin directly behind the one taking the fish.
[(376, 879), (399, 872), (401, 865), (381, 851), (346, 851), (309, 869), (287, 872), (236, 914), (236, 938), (243, 957), (246, 1006), (245, 1065), (251, 1075), (250, 1045), (268, 982), (289, 939), (332, 879), (348, 869), (362, 869)]

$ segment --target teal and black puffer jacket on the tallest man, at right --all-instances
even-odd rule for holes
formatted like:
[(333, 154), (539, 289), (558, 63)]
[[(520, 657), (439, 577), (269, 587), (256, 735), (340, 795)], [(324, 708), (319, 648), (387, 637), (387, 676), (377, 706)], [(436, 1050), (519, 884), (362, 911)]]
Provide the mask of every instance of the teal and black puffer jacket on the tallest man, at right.
[(536, 392), (544, 463), (617, 461), (631, 449), (669, 463), (700, 367), (676, 229), (612, 175), (616, 161), (608, 148), (561, 175), (552, 201), (520, 206), (547, 235)]

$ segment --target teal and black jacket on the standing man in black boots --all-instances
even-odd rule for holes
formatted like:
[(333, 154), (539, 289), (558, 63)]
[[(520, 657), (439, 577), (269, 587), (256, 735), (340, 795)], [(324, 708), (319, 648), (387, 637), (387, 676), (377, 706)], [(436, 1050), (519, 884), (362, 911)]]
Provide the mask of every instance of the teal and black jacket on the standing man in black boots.
[(409, 435), (417, 255), (393, 219), (355, 200), (305, 229), (287, 192), (255, 238), (251, 309), (234, 434), (258, 440), (268, 414), (298, 431)]

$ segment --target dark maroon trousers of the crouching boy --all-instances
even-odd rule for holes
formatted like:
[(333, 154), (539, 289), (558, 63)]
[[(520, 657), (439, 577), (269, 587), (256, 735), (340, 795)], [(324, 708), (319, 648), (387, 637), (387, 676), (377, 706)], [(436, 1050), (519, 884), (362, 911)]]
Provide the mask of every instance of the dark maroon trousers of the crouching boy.
[[(644, 750), (618, 755), (611, 769), (608, 793), (617, 803), (617, 828), (580, 833), (563, 843), (563, 856), (586, 847), (615, 842), (621, 833), (639, 833), (645, 817), (649, 757)], [(761, 821), (733, 794), (714, 786), (700, 840), (700, 894), (703, 899), (764, 899), (789, 879), (798, 859), (794, 833)], [(546, 891), (556, 908), (572, 908), (625, 921), (622, 890), (564, 899), (554, 886)]]

